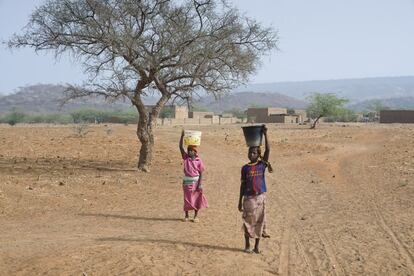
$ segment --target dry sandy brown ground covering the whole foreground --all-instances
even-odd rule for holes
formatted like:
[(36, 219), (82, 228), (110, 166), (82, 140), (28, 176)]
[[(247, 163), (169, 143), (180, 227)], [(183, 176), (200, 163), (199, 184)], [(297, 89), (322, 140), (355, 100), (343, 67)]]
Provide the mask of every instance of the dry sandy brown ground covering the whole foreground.
[[(242, 252), (240, 125), (203, 126), (210, 208), (181, 222), (180, 127), (0, 126), (0, 275), (414, 275), (414, 126), (269, 125), (261, 255)], [(190, 127), (194, 129), (194, 127)]]

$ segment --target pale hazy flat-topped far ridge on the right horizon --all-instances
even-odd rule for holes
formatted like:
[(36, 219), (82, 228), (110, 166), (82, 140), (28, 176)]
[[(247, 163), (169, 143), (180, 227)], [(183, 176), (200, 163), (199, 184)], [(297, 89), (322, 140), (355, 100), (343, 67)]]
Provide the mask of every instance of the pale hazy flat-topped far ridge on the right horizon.
[(235, 92), (280, 93), (298, 99), (313, 92), (335, 93), (351, 102), (414, 97), (414, 76), (251, 84)]

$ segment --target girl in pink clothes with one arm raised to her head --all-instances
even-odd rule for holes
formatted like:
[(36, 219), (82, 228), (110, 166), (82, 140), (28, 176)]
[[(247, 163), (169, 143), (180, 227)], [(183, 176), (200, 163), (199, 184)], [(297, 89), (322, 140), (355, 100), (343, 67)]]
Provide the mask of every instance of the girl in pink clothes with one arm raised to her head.
[(188, 211), (194, 210), (194, 217), (191, 221), (199, 222), (197, 218), (198, 211), (208, 207), (207, 198), (204, 196), (203, 187), (201, 186), (204, 163), (197, 154), (196, 145), (188, 145), (187, 152), (185, 152), (183, 140), (184, 130), (181, 132), (179, 144), (184, 165), (183, 191), (185, 217), (183, 221), (189, 221)]

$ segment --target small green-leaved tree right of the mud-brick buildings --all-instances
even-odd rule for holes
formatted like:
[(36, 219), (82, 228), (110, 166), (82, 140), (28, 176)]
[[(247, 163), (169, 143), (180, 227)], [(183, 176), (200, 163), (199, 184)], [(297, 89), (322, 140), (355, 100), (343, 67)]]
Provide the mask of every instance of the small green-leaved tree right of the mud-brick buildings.
[(335, 116), (341, 112), (347, 99), (338, 98), (333, 93), (313, 93), (308, 97), (310, 102), (306, 112), (312, 118), (311, 129), (316, 127), (319, 119), (325, 116)]

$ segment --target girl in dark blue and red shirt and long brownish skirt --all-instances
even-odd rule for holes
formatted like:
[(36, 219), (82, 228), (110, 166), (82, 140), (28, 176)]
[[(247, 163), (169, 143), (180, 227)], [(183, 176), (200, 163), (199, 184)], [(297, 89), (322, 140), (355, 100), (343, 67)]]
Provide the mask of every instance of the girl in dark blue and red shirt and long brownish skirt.
[[(254, 128), (254, 127), (253, 127)], [(270, 166), (269, 154), (270, 146), (267, 138), (267, 128), (265, 125), (257, 126), (256, 130), (259, 136), (255, 133), (245, 132), (246, 142), (249, 146), (248, 158), (250, 162), (244, 165), (241, 169), (241, 184), (239, 206), (240, 212), (243, 212), (243, 230), (245, 238), (246, 253), (260, 253), (259, 242), (260, 238), (270, 238), (266, 233), (266, 182), (265, 170), (268, 168), (272, 172)], [(265, 138), (265, 152), (261, 155), (261, 135)], [(257, 133), (256, 133), (257, 134)], [(249, 137), (250, 136), (250, 137)], [(253, 137), (254, 139), (251, 139)], [(259, 139), (257, 139), (259, 137)], [(250, 140), (250, 141), (248, 141)], [(256, 141), (254, 141), (256, 140)], [(250, 143), (253, 141), (253, 145)], [(250, 239), (255, 239), (253, 251), (250, 249)]]

